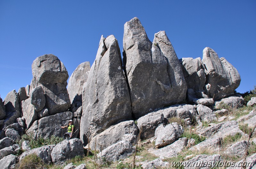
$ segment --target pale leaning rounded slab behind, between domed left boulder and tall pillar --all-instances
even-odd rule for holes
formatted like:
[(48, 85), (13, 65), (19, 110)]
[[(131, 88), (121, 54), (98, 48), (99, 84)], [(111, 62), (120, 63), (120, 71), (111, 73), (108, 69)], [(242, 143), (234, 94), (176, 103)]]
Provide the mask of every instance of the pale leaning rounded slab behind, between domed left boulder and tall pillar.
[(87, 81), (90, 68), (90, 62), (83, 62), (78, 65), (70, 76), (67, 89), (71, 103), (76, 101), (82, 102), (83, 85)]

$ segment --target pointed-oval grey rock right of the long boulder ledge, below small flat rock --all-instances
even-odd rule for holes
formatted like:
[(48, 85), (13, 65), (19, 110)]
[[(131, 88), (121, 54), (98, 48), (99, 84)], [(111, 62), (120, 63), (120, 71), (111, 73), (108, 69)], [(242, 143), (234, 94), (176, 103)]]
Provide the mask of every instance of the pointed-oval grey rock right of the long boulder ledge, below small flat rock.
[(202, 121), (211, 122), (211, 121), (217, 121), (216, 114), (212, 112), (212, 110), (204, 105), (197, 105), (196, 108), (200, 118)]

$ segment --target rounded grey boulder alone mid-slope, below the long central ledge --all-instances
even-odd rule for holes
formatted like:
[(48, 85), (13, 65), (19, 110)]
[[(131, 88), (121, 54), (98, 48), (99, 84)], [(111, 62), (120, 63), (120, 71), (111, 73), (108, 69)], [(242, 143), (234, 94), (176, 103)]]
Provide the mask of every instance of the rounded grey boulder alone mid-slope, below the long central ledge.
[[(162, 128), (162, 127), (161, 127)], [(156, 146), (166, 146), (174, 141), (178, 140), (182, 136), (184, 129), (178, 123), (171, 123), (166, 125), (161, 131), (158, 131), (155, 145)], [(155, 133), (156, 135), (156, 133)]]

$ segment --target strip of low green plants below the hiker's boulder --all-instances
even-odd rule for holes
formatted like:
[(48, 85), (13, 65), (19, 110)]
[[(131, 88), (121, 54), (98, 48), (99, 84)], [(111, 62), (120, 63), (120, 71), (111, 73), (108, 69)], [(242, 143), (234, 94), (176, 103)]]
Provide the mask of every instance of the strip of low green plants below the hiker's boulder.
[(61, 137), (51, 136), (51, 138), (43, 139), (43, 138), (37, 138), (34, 139), (34, 137), (31, 134), (24, 134), (21, 136), (21, 140), (18, 141), (18, 143), (21, 145), (23, 141), (29, 141), (29, 146), (31, 149), (42, 147), (44, 145), (50, 145), (50, 144), (57, 144), (62, 142), (64, 139)]

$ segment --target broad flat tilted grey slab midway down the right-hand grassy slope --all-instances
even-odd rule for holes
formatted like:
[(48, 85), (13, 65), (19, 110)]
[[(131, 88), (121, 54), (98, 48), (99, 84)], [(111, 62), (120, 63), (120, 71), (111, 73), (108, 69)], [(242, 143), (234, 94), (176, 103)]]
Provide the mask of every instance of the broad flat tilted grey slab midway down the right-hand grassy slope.
[(202, 129), (199, 134), (206, 137), (214, 137), (218, 136), (224, 138), (228, 135), (234, 136), (236, 133), (242, 134), (244, 136), (243, 131), (239, 129), (238, 123), (233, 121), (225, 121), (214, 126), (207, 127)]

